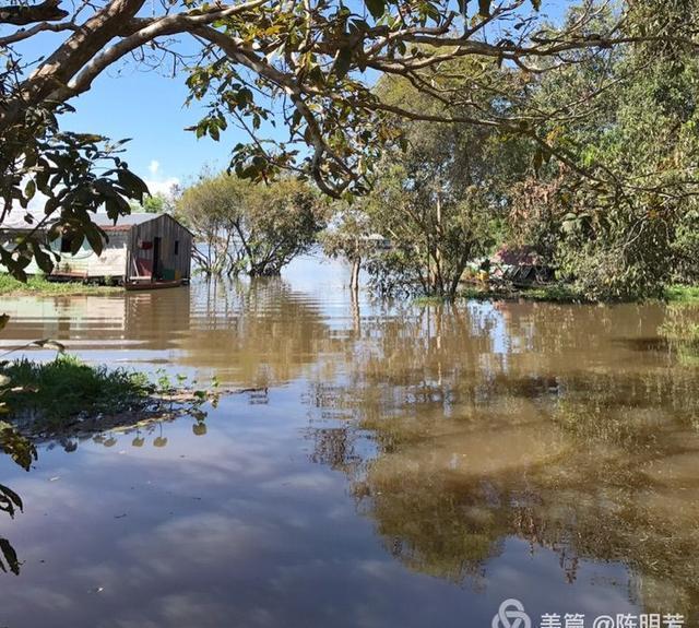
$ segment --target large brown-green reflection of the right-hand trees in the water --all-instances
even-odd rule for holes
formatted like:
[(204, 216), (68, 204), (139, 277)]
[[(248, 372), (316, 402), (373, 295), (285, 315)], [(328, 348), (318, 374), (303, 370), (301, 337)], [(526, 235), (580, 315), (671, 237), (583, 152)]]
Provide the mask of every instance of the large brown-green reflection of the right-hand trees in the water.
[[(556, 552), (570, 582), (581, 559), (623, 561), (649, 612), (691, 613), (699, 380), (643, 342), (661, 308), (624, 307), (364, 320), (344, 381), (311, 384), (311, 458), (348, 475), (358, 510), (410, 569), (483, 586), (517, 537)], [(615, 340), (624, 317), (643, 322)]]

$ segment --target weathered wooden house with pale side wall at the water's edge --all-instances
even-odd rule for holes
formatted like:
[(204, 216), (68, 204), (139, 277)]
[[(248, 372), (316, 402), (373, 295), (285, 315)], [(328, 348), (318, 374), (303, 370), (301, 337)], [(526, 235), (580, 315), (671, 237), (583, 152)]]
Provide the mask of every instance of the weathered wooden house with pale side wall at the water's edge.
[[(24, 221), (26, 212), (11, 215), (0, 225), (0, 246), (11, 248), (22, 235), (32, 230)], [(127, 282), (131, 279), (152, 277), (153, 281), (189, 280), (193, 236), (169, 214), (135, 213), (120, 216), (115, 224), (107, 214), (95, 214), (93, 222), (107, 235), (100, 254), (84, 240), (71, 253), (70, 237), (59, 237), (47, 246), (60, 260), (51, 276), (57, 279), (104, 280)], [(44, 228), (48, 232), (49, 225)], [(1, 268), (1, 266), (0, 266)], [(35, 261), (25, 269), (27, 274), (42, 274)]]

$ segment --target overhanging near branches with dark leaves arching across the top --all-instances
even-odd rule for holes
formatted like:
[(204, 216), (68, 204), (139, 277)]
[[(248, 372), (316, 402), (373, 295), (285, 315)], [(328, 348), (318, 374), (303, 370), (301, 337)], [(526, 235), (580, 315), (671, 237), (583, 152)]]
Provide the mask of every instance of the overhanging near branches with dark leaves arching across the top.
[[(129, 211), (129, 198), (142, 201), (145, 186), (119, 159), (118, 143), (64, 132), (58, 122), (97, 76), (118, 63), (186, 75), (190, 100), (208, 106), (191, 127), (198, 137), (220, 140), (232, 123), (248, 133), (249, 142), (233, 147), (230, 167), (239, 177), (269, 180), (289, 169), (341, 197), (370, 187), (383, 149), (399, 140), (395, 116), (497, 127), (547, 145), (538, 131), (546, 111), (470, 107), (467, 92), (458, 98), (442, 91), (446, 61), (496, 61), (533, 80), (583, 50), (667, 37), (662, 21), (649, 21), (643, 32), (620, 29), (626, 15), (593, 32), (588, 25), (596, 24), (597, 8), (591, 2), (558, 31), (548, 25), (541, 0), (352, 5), (341, 0), (163, 0), (144, 8), (145, 0), (70, 5), (8, 0), (0, 5), (0, 225), (11, 211), (33, 202), (40, 221), (59, 218), (57, 233), (69, 230), (76, 246), (85, 237), (99, 250), (104, 234), (92, 226), (91, 213), (104, 203), (116, 218)], [(27, 58), (24, 44), (49, 42), (46, 33), (58, 34), (58, 45), (39, 59)], [(371, 90), (376, 75), (404, 78), (420, 93), (460, 109), (420, 111), (386, 102)], [(472, 88), (487, 92), (489, 86), (476, 81)], [(265, 120), (283, 120), (286, 139), (261, 137)], [(50, 269), (52, 260), (34, 236), (25, 234), (13, 250), (2, 250), (0, 261), (20, 277), (33, 256)]]

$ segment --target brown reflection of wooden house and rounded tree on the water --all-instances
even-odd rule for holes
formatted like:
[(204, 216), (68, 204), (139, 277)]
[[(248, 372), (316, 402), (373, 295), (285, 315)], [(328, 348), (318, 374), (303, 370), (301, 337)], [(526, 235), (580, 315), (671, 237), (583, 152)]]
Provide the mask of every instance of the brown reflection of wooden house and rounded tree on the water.
[(251, 388), (301, 376), (333, 346), (319, 304), (279, 279), (114, 298), (19, 297), (3, 311), (12, 317), (5, 349), (51, 337), (86, 359), (176, 363)]

